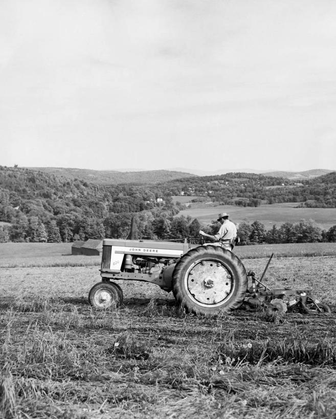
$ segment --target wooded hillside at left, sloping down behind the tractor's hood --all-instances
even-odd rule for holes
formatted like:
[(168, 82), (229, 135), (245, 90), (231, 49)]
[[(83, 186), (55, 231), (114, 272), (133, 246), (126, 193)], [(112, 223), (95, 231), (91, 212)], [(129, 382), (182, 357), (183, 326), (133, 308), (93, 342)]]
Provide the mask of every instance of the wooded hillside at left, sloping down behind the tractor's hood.
[[(171, 201), (153, 185), (94, 185), (0, 166), (0, 221), (12, 224), (13, 241), (118, 236), (129, 229), (132, 213), (147, 210), (150, 215), (143, 218), (148, 219), (160, 212), (176, 214)], [(119, 228), (121, 223), (124, 230)], [(113, 232), (113, 228), (119, 229)]]

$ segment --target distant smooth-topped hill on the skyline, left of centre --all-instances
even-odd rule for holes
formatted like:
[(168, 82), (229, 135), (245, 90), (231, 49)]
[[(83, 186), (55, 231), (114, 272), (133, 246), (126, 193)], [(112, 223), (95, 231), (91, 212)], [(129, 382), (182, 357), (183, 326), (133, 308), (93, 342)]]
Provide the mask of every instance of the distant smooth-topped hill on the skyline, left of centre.
[(62, 176), (71, 180), (80, 179), (87, 183), (94, 183), (96, 185), (117, 185), (121, 183), (148, 185), (195, 176), (191, 173), (170, 170), (122, 172), (118, 170), (89, 170), (65, 167), (27, 167), (27, 169)]

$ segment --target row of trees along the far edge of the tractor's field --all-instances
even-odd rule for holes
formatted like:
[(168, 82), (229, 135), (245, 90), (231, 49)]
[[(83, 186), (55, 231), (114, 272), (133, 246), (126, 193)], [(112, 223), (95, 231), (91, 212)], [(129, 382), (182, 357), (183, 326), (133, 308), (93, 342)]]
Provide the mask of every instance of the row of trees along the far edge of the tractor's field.
[[(66, 222), (61, 224), (51, 220), (44, 225), (37, 217), (21, 216), (18, 223), (9, 227), (0, 226), (0, 242), (68, 242), (86, 240), (87, 238), (102, 239), (104, 237), (126, 238), (130, 232), (131, 219), (136, 220), (136, 238), (145, 240), (184, 240), (199, 242), (199, 230), (209, 234), (217, 233), (219, 224), (213, 222), (201, 226), (197, 218), (176, 216), (173, 212), (109, 214), (101, 222), (89, 223), (82, 219), (80, 226), (73, 232)], [(298, 223), (286, 222), (279, 228), (276, 225), (270, 230), (258, 220), (253, 223), (242, 222), (238, 225), (240, 245), (335, 242), (336, 225), (329, 230), (321, 229), (311, 220), (301, 219)]]

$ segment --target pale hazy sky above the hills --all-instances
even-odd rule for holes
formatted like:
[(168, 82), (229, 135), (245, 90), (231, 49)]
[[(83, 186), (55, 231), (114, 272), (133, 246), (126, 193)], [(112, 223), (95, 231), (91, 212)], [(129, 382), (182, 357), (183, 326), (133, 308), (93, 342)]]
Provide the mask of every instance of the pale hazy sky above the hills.
[(334, 0), (0, 0), (0, 165), (335, 169)]

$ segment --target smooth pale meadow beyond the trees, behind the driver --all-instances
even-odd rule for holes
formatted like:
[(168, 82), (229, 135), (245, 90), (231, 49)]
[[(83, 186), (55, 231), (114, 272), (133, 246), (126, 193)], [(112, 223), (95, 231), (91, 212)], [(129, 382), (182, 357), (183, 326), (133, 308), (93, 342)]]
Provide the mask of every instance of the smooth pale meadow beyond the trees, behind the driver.
[[(189, 199), (192, 198), (189, 196)], [(197, 218), (201, 224), (211, 224), (217, 219), (220, 212), (228, 212), (234, 223), (242, 221), (253, 223), (260, 221), (265, 228), (271, 229), (273, 225), (280, 227), (285, 222), (297, 223), (301, 218), (312, 219), (322, 229), (329, 230), (336, 224), (336, 208), (295, 208), (297, 203), (261, 205), (260, 207), (236, 207), (233, 205), (213, 206), (207, 204), (193, 204), (190, 208), (182, 210), (178, 216), (190, 215)]]

